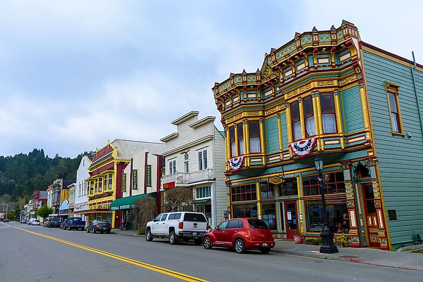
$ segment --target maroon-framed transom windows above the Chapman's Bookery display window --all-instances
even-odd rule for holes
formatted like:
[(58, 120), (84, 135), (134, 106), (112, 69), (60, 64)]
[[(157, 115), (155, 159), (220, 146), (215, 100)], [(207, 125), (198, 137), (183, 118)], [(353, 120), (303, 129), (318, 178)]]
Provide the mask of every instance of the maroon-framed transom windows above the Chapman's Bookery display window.
[[(344, 174), (342, 171), (329, 173), (329, 182), (323, 184), (325, 194), (345, 192)], [(304, 196), (320, 195), (318, 175), (303, 176), (302, 189)]]

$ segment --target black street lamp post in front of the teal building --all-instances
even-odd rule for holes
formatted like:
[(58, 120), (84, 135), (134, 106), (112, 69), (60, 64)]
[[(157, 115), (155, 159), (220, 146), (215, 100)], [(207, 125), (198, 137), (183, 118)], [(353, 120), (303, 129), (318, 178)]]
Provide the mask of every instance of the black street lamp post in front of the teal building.
[(326, 201), (324, 200), (324, 189), (323, 189), (323, 160), (319, 157), (314, 159), (314, 165), (316, 167), (316, 170), (319, 173), (319, 189), (320, 194), (322, 196), (322, 215), (323, 215), (323, 229), (320, 233), (320, 236), (322, 237), (323, 244), (320, 246), (320, 252), (322, 253), (336, 253), (338, 252), (338, 248), (333, 243), (333, 233), (330, 231), (329, 225), (327, 223), (327, 217), (326, 217)]

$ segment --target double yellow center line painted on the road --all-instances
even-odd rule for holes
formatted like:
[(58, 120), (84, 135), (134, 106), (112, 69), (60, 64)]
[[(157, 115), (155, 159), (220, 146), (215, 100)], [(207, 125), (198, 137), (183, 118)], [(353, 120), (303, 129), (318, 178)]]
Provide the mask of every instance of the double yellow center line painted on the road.
[[(6, 223), (3, 223), (3, 224), (8, 225)], [(8, 226), (11, 226), (11, 225), (8, 225)], [(75, 247), (79, 247), (79, 248), (82, 248), (82, 249), (85, 249), (85, 250), (89, 250), (89, 251), (92, 251), (92, 252), (95, 252), (95, 253), (98, 253), (98, 254), (109, 256), (109, 257), (112, 257), (112, 258), (115, 258), (115, 259), (118, 259), (118, 260), (122, 260), (122, 261), (131, 263), (131, 264), (143, 267), (143, 268), (147, 268), (147, 269), (150, 269), (150, 270), (153, 270), (153, 271), (156, 271), (156, 272), (160, 272), (160, 273), (163, 273), (163, 274), (166, 274), (166, 275), (169, 275), (169, 276), (179, 278), (181, 280), (190, 281), (190, 282), (209, 282), (209, 281), (201, 279), (201, 278), (190, 276), (190, 275), (187, 275), (187, 274), (184, 274), (184, 273), (180, 273), (180, 272), (177, 272), (177, 271), (166, 269), (166, 268), (156, 266), (156, 265), (153, 265), (153, 264), (149, 264), (149, 263), (146, 263), (146, 262), (138, 261), (138, 260), (135, 260), (135, 259), (132, 259), (132, 258), (128, 258), (128, 257), (125, 257), (125, 256), (118, 255), (118, 254), (110, 253), (110, 252), (107, 252), (107, 251), (104, 251), (104, 250), (99, 250), (99, 249), (84, 246), (84, 245), (81, 245), (81, 244), (69, 242), (69, 241), (66, 241), (66, 240), (63, 240), (63, 239), (59, 239), (59, 238), (56, 238), (56, 237), (40, 234), (40, 233), (30, 231), (30, 230), (27, 230), (27, 229), (23, 229), (23, 228), (20, 228), (20, 227), (15, 227), (15, 228), (22, 230), (22, 231), (25, 231), (25, 232), (33, 233), (33, 234), (38, 235), (38, 236), (42, 236), (42, 237), (49, 238), (49, 239), (52, 239), (52, 240), (56, 240), (56, 241), (59, 241), (59, 242), (65, 243), (65, 244), (69, 244), (69, 245), (72, 245), (72, 246), (75, 246)]]

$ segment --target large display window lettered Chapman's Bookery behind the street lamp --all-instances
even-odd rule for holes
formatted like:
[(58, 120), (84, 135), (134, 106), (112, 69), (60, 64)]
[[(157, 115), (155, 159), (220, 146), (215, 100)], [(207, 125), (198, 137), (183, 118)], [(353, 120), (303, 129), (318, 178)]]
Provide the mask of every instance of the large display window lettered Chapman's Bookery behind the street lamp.
[[(304, 201), (307, 232), (321, 232), (323, 228), (322, 201)], [(330, 231), (348, 233), (349, 218), (345, 199), (326, 199), (326, 216)]]

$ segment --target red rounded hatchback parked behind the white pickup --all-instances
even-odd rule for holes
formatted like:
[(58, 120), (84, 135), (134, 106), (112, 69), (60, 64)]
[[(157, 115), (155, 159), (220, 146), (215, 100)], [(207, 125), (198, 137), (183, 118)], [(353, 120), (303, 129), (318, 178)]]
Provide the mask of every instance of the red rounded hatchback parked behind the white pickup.
[(275, 240), (267, 224), (257, 218), (236, 218), (222, 221), (203, 236), (205, 249), (212, 247), (234, 248), (237, 253), (246, 249), (258, 249), (268, 253)]

